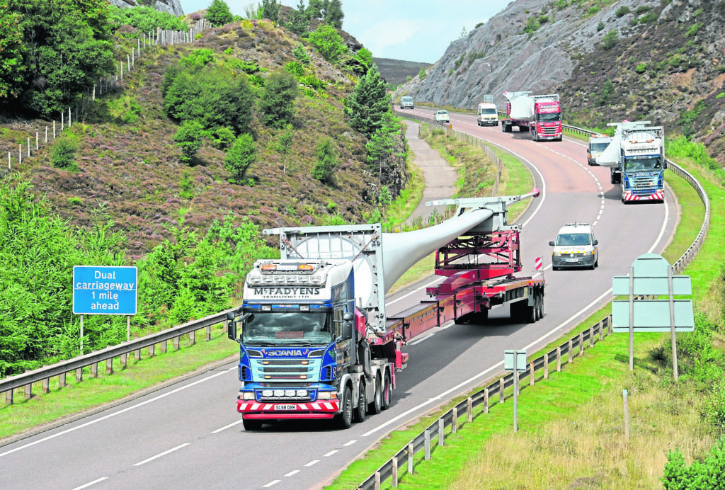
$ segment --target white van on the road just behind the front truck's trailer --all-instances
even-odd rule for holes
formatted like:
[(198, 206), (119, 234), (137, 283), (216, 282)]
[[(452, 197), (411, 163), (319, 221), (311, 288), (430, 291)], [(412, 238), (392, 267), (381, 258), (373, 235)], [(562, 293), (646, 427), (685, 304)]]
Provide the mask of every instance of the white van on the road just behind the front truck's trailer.
[(549, 245), (554, 247), (551, 254), (552, 269), (558, 270), (563, 267), (594, 269), (599, 265), (598, 244), (592, 225), (567, 223), (559, 229), (556, 240), (549, 242)]

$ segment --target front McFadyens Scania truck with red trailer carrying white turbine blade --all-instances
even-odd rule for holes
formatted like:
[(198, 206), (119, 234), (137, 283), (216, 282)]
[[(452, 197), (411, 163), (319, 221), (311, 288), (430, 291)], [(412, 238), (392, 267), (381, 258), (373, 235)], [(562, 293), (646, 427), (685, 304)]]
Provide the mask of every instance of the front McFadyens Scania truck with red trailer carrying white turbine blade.
[[(510, 305), (517, 322), (539, 320), (545, 281), (516, 277), (521, 227), (506, 219), (508, 204), (530, 196), (538, 189), (427, 203), (457, 212), (407, 233), (382, 233), (379, 224), (265, 230), (279, 235), (281, 258), (255, 262), (228, 318), (228, 336), (240, 344), (244, 428), (285, 419), (347, 428), (389, 407), (406, 341), (451, 320), (484, 322), (497, 305)], [(432, 252), (444, 281), (428, 288), (430, 299), (386, 316), (385, 292)]]

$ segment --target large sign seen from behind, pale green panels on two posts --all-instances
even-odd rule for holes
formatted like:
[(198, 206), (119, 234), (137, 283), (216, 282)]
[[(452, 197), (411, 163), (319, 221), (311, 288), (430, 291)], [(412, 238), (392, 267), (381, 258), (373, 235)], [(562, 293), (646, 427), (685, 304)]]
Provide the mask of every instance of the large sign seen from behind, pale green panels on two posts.
[[(670, 332), (672, 367), (678, 381), (676, 332), (695, 330), (691, 299), (674, 296), (692, 294), (689, 275), (673, 275), (672, 267), (658, 254), (637, 257), (629, 267), (629, 276), (616, 275), (612, 280), (614, 296), (629, 300), (612, 302), (612, 331), (629, 332), (629, 370), (634, 369), (634, 333)], [(639, 296), (668, 296), (668, 299), (635, 299)]]

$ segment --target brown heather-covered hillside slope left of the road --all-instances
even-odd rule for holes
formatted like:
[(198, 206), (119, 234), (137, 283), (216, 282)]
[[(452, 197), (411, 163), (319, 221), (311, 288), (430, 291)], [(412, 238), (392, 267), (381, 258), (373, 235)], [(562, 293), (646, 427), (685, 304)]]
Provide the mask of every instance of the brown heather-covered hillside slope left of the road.
[[(125, 58), (123, 43), (118, 57)], [(135, 41), (131, 41), (135, 44)], [(252, 133), (257, 162), (247, 170), (245, 185), (228, 183), (225, 151), (204, 140), (191, 166), (180, 161), (173, 136), (178, 125), (163, 110), (161, 85), (167, 67), (195, 49), (211, 49), (222, 63), (244, 60), (260, 67), (261, 78), (293, 62), (302, 43), (311, 57), (319, 91), (297, 97), (292, 151), (278, 149), (281, 130), (268, 128), (254, 111)], [(260, 227), (365, 222), (376, 209), (381, 183), (365, 162), (367, 139), (353, 130), (344, 114), (344, 98), (355, 77), (326, 62), (304, 39), (265, 21), (242, 21), (207, 30), (193, 45), (156, 47), (146, 52), (123, 78), (123, 91), (99, 98), (80, 122), (66, 129), (78, 146), (75, 171), (52, 165), (54, 144), (14, 168), (32, 179), (35, 191), (48, 197), (55, 211), (77, 225), (90, 223), (99, 207), (123, 228), (133, 257), (149, 252), (170, 227), (205, 231), (215, 219), (231, 212), (249, 217)], [(43, 120), (6, 120), (0, 150), (7, 154), (27, 136), (51, 125)], [(41, 136), (42, 137), (42, 136)], [(312, 177), (316, 146), (331, 138), (338, 166), (334, 184)], [(401, 136), (402, 138), (402, 136)], [(404, 141), (400, 143), (403, 145)], [(401, 149), (402, 151), (402, 149)], [(399, 162), (386, 175), (392, 196), (405, 187), (407, 170)], [(7, 171), (7, 170), (5, 170)]]

